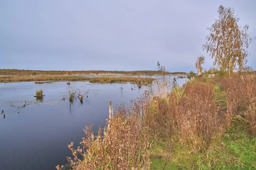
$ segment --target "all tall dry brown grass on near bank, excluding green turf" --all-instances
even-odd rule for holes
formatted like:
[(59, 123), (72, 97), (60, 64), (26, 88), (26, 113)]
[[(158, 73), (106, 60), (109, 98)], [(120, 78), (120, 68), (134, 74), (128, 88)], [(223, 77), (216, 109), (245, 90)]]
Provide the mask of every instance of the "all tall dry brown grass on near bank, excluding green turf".
[[(70, 165), (75, 170), (145, 170), (150, 168), (150, 148), (156, 142), (166, 143), (170, 150), (176, 141), (190, 153), (208, 154), (223, 145), (230, 127), (242, 126), (256, 136), (255, 85), (253, 75), (215, 77), (209, 81), (195, 79), (180, 88), (172, 86), (163, 96), (145, 92), (132, 100), (131, 106), (119, 107), (104, 132), (100, 128), (93, 136), (91, 126), (87, 127), (82, 149), (69, 145), (74, 155), (68, 159)], [(159, 87), (169, 86), (163, 82)], [(165, 166), (172, 157), (166, 153)], [(61, 169), (59, 165), (56, 168)]]

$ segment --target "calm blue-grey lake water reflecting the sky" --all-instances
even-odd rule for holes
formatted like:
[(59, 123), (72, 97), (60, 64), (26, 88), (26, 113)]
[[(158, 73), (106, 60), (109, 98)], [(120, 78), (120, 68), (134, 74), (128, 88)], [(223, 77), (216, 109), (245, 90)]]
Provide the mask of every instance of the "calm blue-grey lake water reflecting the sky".
[[(171, 78), (171, 77), (170, 77)], [(185, 79), (177, 79), (183, 84)], [(71, 82), (81, 91), (89, 90), (88, 98), (70, 102), (62, 101), (67, 82), (35, 84), (35, 82), (0, 83), (0, 169), (3, 170), (55, 170), (72, 156), (67, 145), (74, 147), (84, 137), (83, 128), (92, 123), (93, 130), (104, 127), (109, 116), (109, 101), (113, 106), (128, 103), (143, 94), (143, 89), (131, 90), (134, 84), (97, 84)], [(43, 89), (43, 101), (37, 101), (35, 91)], [(26, 100), (25, 108), (22, 106)], [(115, 108), (114, 108), (115, 111)], [(19, 113), (18, 113), (19, 112)]]

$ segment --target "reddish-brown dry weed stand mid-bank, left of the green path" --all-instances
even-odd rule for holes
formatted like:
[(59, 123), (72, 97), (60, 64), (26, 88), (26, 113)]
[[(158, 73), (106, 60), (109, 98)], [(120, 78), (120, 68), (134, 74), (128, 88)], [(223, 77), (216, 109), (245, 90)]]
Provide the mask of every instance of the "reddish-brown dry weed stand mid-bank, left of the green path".
[(189, 83), (185, 93), (175, 89), (168, 98), (154, 97), (145, 114), (145, 126), (160, 139), (172, 135), (193, 150), (206, 150), (223, 129), (211, 84)]

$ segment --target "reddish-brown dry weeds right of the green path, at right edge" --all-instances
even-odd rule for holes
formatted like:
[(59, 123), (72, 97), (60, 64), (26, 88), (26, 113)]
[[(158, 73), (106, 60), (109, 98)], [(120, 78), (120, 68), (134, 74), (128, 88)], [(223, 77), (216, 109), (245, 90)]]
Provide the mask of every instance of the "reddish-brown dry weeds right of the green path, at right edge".
[[(226, 79), (215, 79), (227, 94), (227, 127), (243, 123), (256, 136), (256, 75), (234, 75)], [(234, 119), (235, 118), (235, 119)]]

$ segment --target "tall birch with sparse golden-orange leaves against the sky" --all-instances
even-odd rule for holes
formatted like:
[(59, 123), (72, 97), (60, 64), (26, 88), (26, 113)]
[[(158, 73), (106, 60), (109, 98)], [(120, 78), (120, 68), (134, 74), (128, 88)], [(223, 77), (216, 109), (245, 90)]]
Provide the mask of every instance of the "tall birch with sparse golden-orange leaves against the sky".
[(241, 70), (247, 63), (249, 43), (254, 39), (247, 33), (249, 26), (239, 26), (239, 17), (234, 15), (233, 8), (219, 6), (218, 19), (207, 28), (210, 31), (206, 37), (203, 50), (214, 58), (213, 65), (229, 74), (238, 66)]

